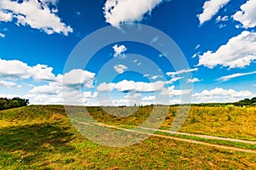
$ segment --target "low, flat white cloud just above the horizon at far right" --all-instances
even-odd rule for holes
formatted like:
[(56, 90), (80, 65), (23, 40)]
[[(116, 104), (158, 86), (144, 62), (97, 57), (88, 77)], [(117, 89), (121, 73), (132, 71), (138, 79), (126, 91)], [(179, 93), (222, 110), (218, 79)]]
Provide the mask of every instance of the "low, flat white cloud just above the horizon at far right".
[(193, 94), (199, 102), (233, 102), (239, 99), (252, 98), (255, 94), (250, 91), (236, 91), (234, 89), (214, 88)]

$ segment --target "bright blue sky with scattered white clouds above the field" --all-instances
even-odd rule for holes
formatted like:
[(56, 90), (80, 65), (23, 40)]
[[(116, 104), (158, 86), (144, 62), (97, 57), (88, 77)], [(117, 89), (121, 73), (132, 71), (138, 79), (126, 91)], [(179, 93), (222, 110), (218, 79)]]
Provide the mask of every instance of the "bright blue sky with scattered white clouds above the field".
[[(32, 104), (62, 104), (64, 96), (73, 105), (169, 105), (184, 102), (183, 95), (193, 103), (253, 98), (255, 9), (254, 0), (1, 0), (0, 96)], [(84, 68), (65, 70), (78, 43), (106, 26), (119, 35), (155, 28), (176, 42), (188, 65), (176, 70), (169, 61), (179, 62), (178, 56), (152, 48), (167, 46), (152, 33), (147, 44), (112, 42)], [(91, 47), (106, 38), (112, 37), (92, 40)], [(83, 50), (80, 57), (88, 57), (90, 46)]]

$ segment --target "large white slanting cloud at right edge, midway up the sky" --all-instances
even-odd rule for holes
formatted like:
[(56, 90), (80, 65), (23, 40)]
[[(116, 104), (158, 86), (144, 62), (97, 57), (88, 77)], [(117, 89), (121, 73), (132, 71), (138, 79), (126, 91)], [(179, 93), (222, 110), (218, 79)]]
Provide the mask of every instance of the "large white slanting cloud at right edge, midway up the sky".
[(216, 65), (229, 68), (242, 68), (256, 59), (256, 33), (242, 31), (240, 35), (230, 38), (216, 52), (207, 51), (199, 56), (199, 64), (209, 68)]

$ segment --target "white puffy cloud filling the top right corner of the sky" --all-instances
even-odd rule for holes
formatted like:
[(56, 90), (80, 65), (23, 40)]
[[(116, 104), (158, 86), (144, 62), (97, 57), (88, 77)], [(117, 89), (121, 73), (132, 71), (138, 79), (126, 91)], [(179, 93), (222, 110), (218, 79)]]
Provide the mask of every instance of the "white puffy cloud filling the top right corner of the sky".
[(234, 20), (241, 22), (244, 28), (256, 26), (256, 1), (248, 0), (241, 5), (241, 11), (233, 15)]

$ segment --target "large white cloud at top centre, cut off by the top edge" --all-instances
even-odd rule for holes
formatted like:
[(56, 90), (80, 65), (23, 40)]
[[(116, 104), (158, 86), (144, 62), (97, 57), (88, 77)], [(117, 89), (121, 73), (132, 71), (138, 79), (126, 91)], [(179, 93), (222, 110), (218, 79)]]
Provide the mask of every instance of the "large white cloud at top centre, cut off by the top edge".
[(107, 0), (103, 13), (106, 22), (119, 27), (121, 23), (143, 20), (144, 14), (151, 14), (157, 5), (167, 1), (169, 0)]

